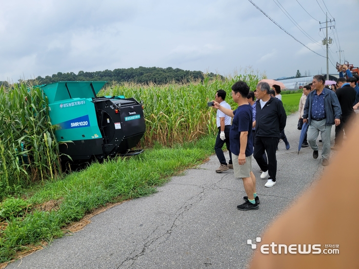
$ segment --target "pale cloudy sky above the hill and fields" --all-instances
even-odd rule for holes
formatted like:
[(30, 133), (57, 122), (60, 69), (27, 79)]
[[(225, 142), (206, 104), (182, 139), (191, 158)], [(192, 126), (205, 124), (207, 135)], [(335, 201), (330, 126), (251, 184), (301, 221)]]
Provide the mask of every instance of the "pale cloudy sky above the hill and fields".
[[(319, 21), (329, 11), (329, 59), (335, 65), (343, 50), (342, 61), (359, 66), (358, 0), (251, 1), (322, 56)], [(1, 0), (0, 39), (0, 80), (13, 82), (139, 66), (222, 75), (252, 67), (274, 79), (326, 73), (325, 57), (248, 0)]]

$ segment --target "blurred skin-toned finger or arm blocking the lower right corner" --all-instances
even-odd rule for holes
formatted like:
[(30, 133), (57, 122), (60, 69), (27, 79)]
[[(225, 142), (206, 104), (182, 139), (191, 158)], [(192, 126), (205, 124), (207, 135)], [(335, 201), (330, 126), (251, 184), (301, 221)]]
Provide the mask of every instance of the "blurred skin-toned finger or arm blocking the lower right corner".
[(270, 246), (269, 254), (262, 254), (258, 245), (251, 269), (359, 268), (359, 207), (345, 201), (349, 190), (359, 189), (359, 143), (355, 136), (359, 133), (359, 118), (352, 120), (347, 126), (354, 135), (348, 135), (321, 179), (269, 226), (260, 243), (286, 244), (288, 249), (291, 244), (321, 244), (322, 250), (326, 244), (338, 244), (340, 254), (299, 254), (298, 249), (297, 254), (283, 254), (283, 249), (282, 254), (272, 254)]

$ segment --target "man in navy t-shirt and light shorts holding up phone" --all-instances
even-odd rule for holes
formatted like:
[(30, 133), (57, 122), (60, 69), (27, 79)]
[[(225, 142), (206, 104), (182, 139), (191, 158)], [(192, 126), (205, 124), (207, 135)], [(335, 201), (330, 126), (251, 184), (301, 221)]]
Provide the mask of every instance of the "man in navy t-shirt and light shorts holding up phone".
[(246, 82), (238, 81), (232, 86), (232, 98), (238, 108), (234, 111), (222, 107), (214, 101), (214, 108), (233, 117), (229, 132), (230, 150), (233, 159), (233, 170), (236, 178), (242, 178), (247, 196), (246, 201), (237, 205), (239, 210), (256, 210), (260, 200), (255, 190), (255, 176), (252, 172), (253, 138), (252, 138), (252, 107), (248, 104), (249, 87)]

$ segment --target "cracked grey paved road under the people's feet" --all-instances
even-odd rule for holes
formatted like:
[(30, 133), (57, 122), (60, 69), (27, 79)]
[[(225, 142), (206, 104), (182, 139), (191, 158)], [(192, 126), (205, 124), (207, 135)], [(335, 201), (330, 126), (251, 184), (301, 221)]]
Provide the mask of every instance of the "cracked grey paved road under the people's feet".
[[(216, 156), (173, 177), (158, 193), (127, 201), (96, 215), (84, 230), (55, 240), (7, 266), (10, 268), (245, 268), (252, 250), (247, 239), (261, 236), (323, 171), (320, 158), (304, 148), (297, 155), (297, 117), (287, 119), (290, 150), (280, 142), (277, 183), (265, 188), (253, 160), (260, 209), (236, 205), (246, 195), (233, 170), (214, 172)], [(334, 128), (332, 128), (333, 137)], [(214, 141), (213, 141), (214, 145)]]

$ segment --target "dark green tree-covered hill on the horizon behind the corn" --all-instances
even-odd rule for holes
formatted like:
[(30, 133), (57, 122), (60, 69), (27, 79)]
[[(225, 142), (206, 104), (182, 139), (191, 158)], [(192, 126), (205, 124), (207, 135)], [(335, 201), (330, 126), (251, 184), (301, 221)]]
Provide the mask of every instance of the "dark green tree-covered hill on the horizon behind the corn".
[[(207, 76), (215, 77), (213, 73), (208, 73)], [(222, 77), (220, 75), (220, 77)], [(223, 78), (223, 77), (222, 77)], [(201, 71), (189, 71), (172, 67), (138, 67), (138, 68), (118, 68), (112, 70), (84, 72), (79, 71), (62, 73), (58, 72), (51, 76), (38, 76), (35, 79), (29, 79), (27, 82), (32, 84), (42, 85), (50, 84), (57, 81), (108, 81), (108, 82), (135, 82), (138, 84), (167, 84), (171, 82), (181, 83), (189, 82), (191, 80), (203, 80), (204, 74)], [(24, 82), (19, 80), (19, 82)], [(0, 85), (7, 84), (6, 81), (0, 81)]]

